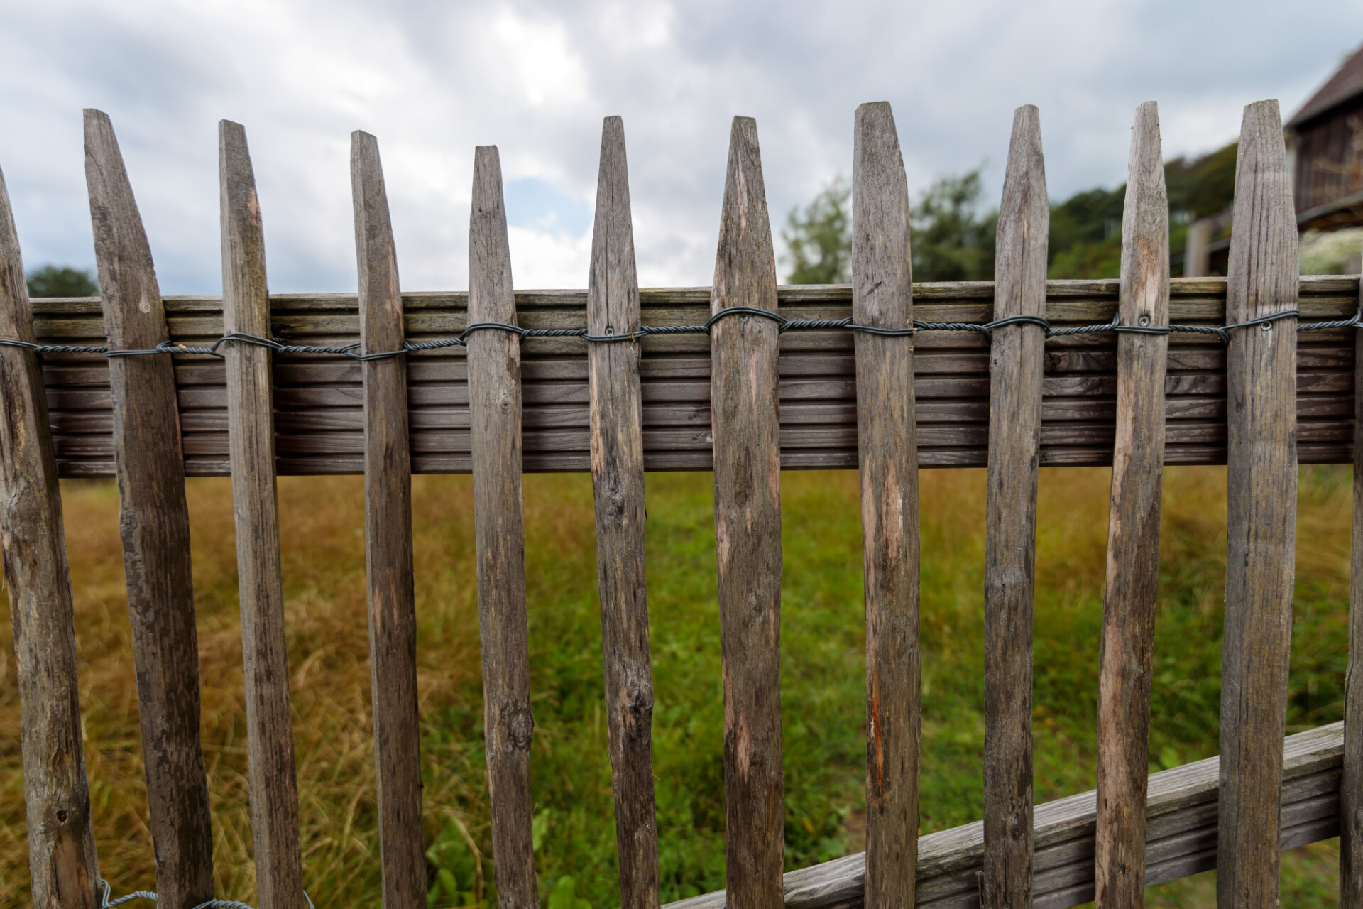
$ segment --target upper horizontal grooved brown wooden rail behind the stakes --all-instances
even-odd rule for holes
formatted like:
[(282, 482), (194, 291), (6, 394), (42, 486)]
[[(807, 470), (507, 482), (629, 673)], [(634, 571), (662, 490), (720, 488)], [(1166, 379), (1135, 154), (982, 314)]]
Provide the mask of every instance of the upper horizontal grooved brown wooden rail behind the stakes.
[[(1047, 318), (1056, 326), (1107, 322), (1118, 281), (1047, 282)], [(517, 318), (529, 328), (586, 324), (585, 290), (517, 292)], [(846, 318), (851, 286), (785, 286), (788, 319)], [(466, 293), (403, 293), (406, 337), (451, 337), (466, 323)], [(1303, 320), (1349, 318), (1356, 275), (1303, 277)], [(992, 282), (919, 283), (913, 315), (925, 322), (987, 322)], [(305, 343), (358, 338), (354, 294), (274, 294), (275, 337)], [(643, 324), (694, 324), (710, 312), (710, 288), (641, 290)], [(166, 297), (170, 337), (187, 343), (222, 333), (217, 297)], [(102, 343), (98, 298), (34, 300), (38, 339)], [(1224, 278), (1175, 278), (1169, 320), (1223, 324)], [(1298, 439), (1303, 463), (1345, 463), (1353, 451), (1355, 328), (1302, 335), (1298, 350)], [(643, 459), (647, 470), (709, 470), (710, 339), (643, 339)], [(586, 343), (578, 338), (523, 342), (525, 469), (590, 469)], [(316, 356), (274, 357), (279, 473), (361, 473), (364, 390), (358, 363)], [(984, 466), (988, 446), (988, 346), (977, 333), (915, 338), (920, 466)], [(849, 331), (781, 335), (781, 466), (856, 467), (856, 365)], [(98, 356), (45, 354), (44, 378), (59, 470), (65, 477), (113, 474), (108, 363)], [(412, 467), (466, 473), (469, 395), (463, 350), (408, 354)], [(228, 474), (224, 367), (210, 357), (176, 357), (185, 472)], [(1225, 349), (1208, 335), (1169, 338), (1167, 463), (1225, 462)], [(1116, 338), (1112, 333), (1045, 342), (1041, 463), (1105, 465), (1116, 414)]]

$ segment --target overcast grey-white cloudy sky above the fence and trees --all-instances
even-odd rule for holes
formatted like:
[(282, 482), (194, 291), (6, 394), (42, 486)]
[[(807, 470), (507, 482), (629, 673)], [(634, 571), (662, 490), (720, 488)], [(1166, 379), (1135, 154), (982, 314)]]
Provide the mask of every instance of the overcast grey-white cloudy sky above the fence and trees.
[[(245, 124), (273, 290), (353, 290), (349, 135), (379, 138), (408, 290), (468, 283), (473, 149), (502, 153), (518, 288), (586, 285), (601, 117), (628, 142), (639, 278), (705, 285), (733, 114), (778, 234), (894, 106), (910, 189), (1041, 109), (1052, 198), (1124, 180), (1135, 105), (1165, 157), (1284, 119), (1363, 42), (1363, 3), (1261, 0), (0, 0), (0, 168), (26, 266), (91, 267), (80, 109), (109, 113), (164, 293), (218, 293), (217, 123)], [(780, 245), (780, 240), (778, 240)], [(785, 268), (780, 267), (784, 277)]]

